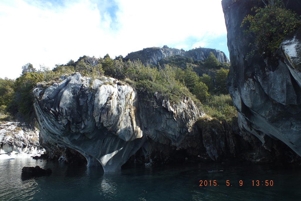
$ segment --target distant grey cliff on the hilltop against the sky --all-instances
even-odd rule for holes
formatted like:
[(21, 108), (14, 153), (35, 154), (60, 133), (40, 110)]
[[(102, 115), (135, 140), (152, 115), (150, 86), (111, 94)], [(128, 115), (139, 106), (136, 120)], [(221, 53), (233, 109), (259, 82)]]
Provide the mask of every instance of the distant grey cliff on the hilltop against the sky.
[(216, 49), (210, 48), (197, 48), (189, 51), (182, 52), (179, 49), (175, 48), (159, 48), (159, 47), (152, 47), (152, 48), (145, 48), (143, 50), (137, 52), (129, 53), (125, 59), (129, 60), (137, 60), (139, 59), (144, 65), (146, 64), (158, 64), (160, 59), (180, 55), (180, 56), (187, 56), (195, 60), (204, 61), (210, 52), (216, 56), (219, 62), (227, 62), (229, 60), (224, 52), (221, 52)]

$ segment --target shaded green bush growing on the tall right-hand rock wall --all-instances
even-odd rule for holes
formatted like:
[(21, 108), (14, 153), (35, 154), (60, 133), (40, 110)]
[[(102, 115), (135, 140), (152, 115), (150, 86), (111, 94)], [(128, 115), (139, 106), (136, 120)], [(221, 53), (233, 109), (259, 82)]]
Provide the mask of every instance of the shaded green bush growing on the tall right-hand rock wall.
[(274, 54), (284, 37), (301, 24), (300, 17), (287, 10), (282, 1), (270, 3), (264, 8), (252, 8), (256, 14), (247, 15), (241, 23), (240, 27), (247, 25), (244, 35), (253, 38), (248, 56), (253, 56), (256, 50)]

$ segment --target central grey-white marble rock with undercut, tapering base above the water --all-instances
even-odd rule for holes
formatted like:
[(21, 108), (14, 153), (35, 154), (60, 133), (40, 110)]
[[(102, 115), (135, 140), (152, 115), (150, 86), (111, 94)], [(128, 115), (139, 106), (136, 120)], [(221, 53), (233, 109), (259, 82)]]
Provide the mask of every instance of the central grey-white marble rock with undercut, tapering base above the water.
[(119, 170), (141, 147), (147, 154), (150, 140), (181, 148), (204, 115), (190, 98), (163, 101), (155, 110), (145, 108), (131, 86), (113, 78), (90, 80), (79, 73), (33, 92), (43, 142), (73, 148), (88, 166), (101, 164), (105, 172)]

